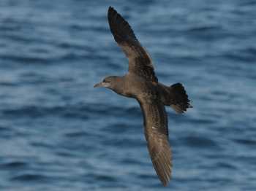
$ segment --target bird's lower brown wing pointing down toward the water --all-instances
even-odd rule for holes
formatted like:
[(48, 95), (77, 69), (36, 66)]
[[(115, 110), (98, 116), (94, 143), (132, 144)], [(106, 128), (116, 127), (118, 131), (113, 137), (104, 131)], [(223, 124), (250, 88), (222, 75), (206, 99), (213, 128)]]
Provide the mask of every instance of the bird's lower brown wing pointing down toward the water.
[(172, 155), (165, 106), (156, 100), (143, 100), (139, 103), (143, 112), (148, 151), (159, 179), (166, 186), (171, 176)]

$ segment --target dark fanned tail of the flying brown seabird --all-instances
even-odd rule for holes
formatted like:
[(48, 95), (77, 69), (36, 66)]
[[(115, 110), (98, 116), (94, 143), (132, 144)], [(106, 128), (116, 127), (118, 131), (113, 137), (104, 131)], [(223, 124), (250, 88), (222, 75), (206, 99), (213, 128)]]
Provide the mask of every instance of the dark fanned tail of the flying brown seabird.
[(190, 104), (190, 100), (187, 96), (186, 90), (181, 83), (176, 83), (169, 87), (170, 95), (172, 97), (172, 101), (170, 102), (170, 106), (177, 113), (184, 113), (188, 108), (192, 108)]

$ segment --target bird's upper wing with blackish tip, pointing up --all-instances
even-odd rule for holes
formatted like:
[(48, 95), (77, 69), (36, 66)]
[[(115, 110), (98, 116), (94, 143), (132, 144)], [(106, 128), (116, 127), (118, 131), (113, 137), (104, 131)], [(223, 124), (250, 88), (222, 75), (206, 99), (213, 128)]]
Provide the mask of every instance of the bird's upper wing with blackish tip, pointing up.
[(150, 56), (141, 46), (129, 23), (113, 7), (108, 9), (108, 23), (114, 39), (129, 59), (129, 72), (158, 82)]

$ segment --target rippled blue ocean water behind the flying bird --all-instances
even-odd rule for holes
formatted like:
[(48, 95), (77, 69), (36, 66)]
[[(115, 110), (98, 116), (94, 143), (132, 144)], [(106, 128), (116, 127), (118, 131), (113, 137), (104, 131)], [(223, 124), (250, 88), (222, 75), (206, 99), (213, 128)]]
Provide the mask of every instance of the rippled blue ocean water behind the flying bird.
[[(173, 179), (151, 165), (135, 100), (94, 83), (127, 72), (109, 6), (150, 52)], [(256, 190), (256, 1), (0, 1), (0, 190)]]

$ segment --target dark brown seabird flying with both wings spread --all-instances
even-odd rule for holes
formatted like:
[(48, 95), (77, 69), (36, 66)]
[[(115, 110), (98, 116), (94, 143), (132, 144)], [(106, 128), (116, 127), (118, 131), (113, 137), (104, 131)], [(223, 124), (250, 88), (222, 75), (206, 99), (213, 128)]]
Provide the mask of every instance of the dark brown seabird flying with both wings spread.
[(167, 86), (158, 82), (151, 57), (129, 23), (113, 7), (108, 9), (108, 23), (115, 41), (129, 60), (129, 69), (124, 76), (105, 77), (94, 87), (107, 87), (119, 95), (138, 101), (143, 112), (149, 155), (160, 181), (166, 186), (171, 177), (172, 152), (165, 106), (171, 106), (180, 114), (192, 105), (181, 83)]

